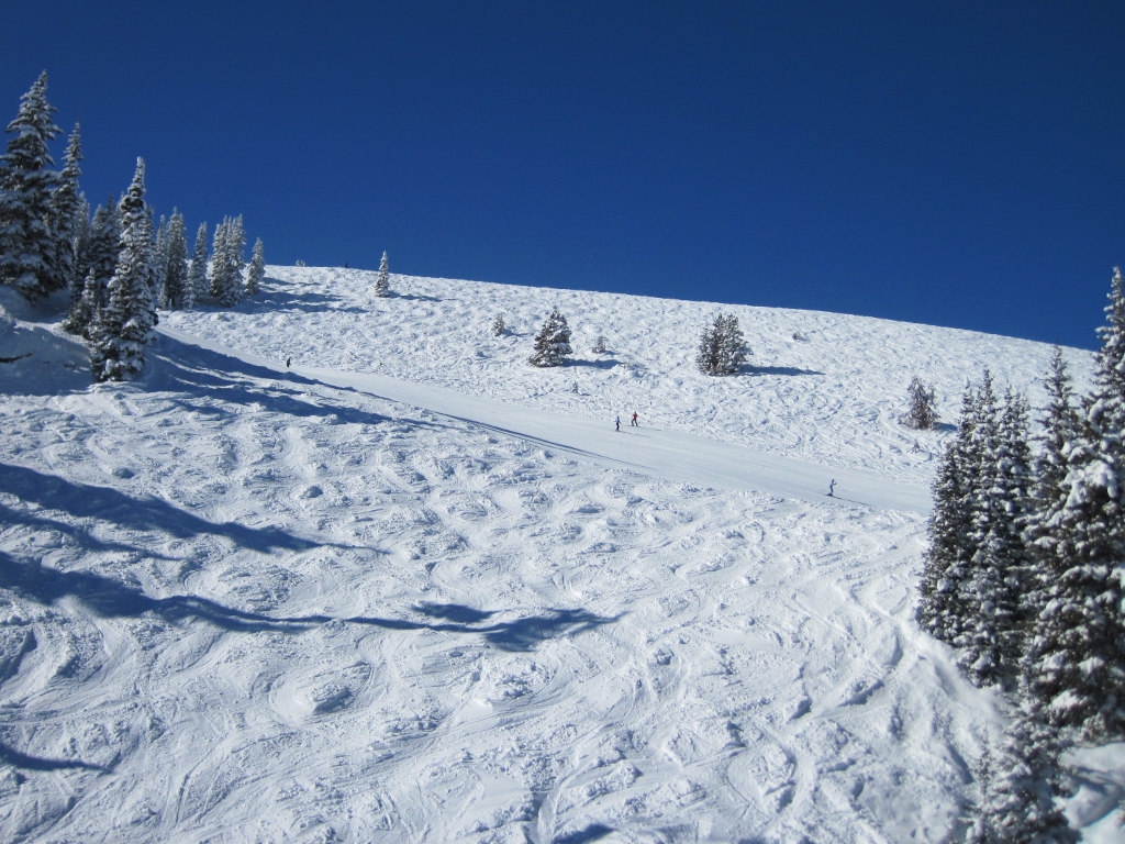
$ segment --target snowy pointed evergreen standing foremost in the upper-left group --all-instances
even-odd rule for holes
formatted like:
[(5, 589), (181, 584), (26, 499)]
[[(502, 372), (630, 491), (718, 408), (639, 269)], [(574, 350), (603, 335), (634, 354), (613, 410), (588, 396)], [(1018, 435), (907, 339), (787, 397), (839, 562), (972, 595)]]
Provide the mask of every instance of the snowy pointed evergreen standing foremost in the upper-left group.
[(98, 381), (127, 380), (144, 368), (144, 347), (156, 325), (156, 303), (150, 286), (151, 217), (145, 207), (144, 160), (119, 206), (120, 252), (107, 288), (108, 299), (93, 329), (91, 365)]

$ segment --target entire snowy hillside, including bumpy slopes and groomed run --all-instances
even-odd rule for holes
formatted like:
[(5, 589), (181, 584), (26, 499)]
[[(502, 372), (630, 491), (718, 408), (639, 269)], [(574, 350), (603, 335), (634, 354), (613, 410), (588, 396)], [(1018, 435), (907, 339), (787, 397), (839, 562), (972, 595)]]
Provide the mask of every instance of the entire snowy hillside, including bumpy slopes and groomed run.
[(984, 365), (1035, 402), (1047, 348), (723, 307), (757, 369), (709, 378), (716, 305), (269, 275), (124, 386), (0, 290), (0, 839), (955, 829), (1001, 713), (912, 621), (948, 430), (896, 419)]

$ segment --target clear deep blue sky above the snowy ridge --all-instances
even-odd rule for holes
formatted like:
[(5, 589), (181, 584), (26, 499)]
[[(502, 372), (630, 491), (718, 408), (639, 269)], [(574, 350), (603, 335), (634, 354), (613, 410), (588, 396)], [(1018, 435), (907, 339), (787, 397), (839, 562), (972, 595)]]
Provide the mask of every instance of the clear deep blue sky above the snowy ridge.
[(0, 119), (271, 263), (1087, 348), (1125, 263), (1120, 0), (10, 6)]

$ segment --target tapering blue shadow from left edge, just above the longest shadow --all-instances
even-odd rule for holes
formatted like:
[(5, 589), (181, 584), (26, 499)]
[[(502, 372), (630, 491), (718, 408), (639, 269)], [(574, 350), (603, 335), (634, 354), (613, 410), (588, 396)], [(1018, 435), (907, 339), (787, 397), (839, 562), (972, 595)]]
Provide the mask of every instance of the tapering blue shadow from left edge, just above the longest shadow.
[(178, 539), (209, 533), (262, 554), (303, 551), (324, 545), (295, 537), (280, 528), (207, 521), (161, 499), (138, 499), (112, 487), (82, 484), (3, 463), (0, 463), (0, 490), (74, 518), (100, 519), (132, 530), (162, 531)]

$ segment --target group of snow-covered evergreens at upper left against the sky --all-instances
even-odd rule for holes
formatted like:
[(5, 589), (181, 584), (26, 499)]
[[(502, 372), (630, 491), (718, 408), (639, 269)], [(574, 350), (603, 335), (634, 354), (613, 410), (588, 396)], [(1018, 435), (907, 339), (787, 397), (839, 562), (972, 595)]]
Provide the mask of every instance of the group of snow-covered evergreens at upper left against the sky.
[(242, 217), (216, 230), (210, 260), (204, 223), (189, 260), (179, 210), (154, 231), (141, 159), (120, 201), (110, 197), (91, 216), (79, 185), (78, 125), (62, 171), (53, 169), (50, 143), (60, 129), (46, 91), (43, 72), (20, 99), (0, 156), (0, 284), (33, 302), (69, 290), (62, 326), (89, 342), (96, 380), (124, 380), (144, 367), (158, 306), (190, 308), (208, 299), (233, 305), (256, 294), (266, 267), (261, 240), (248, 272)]

